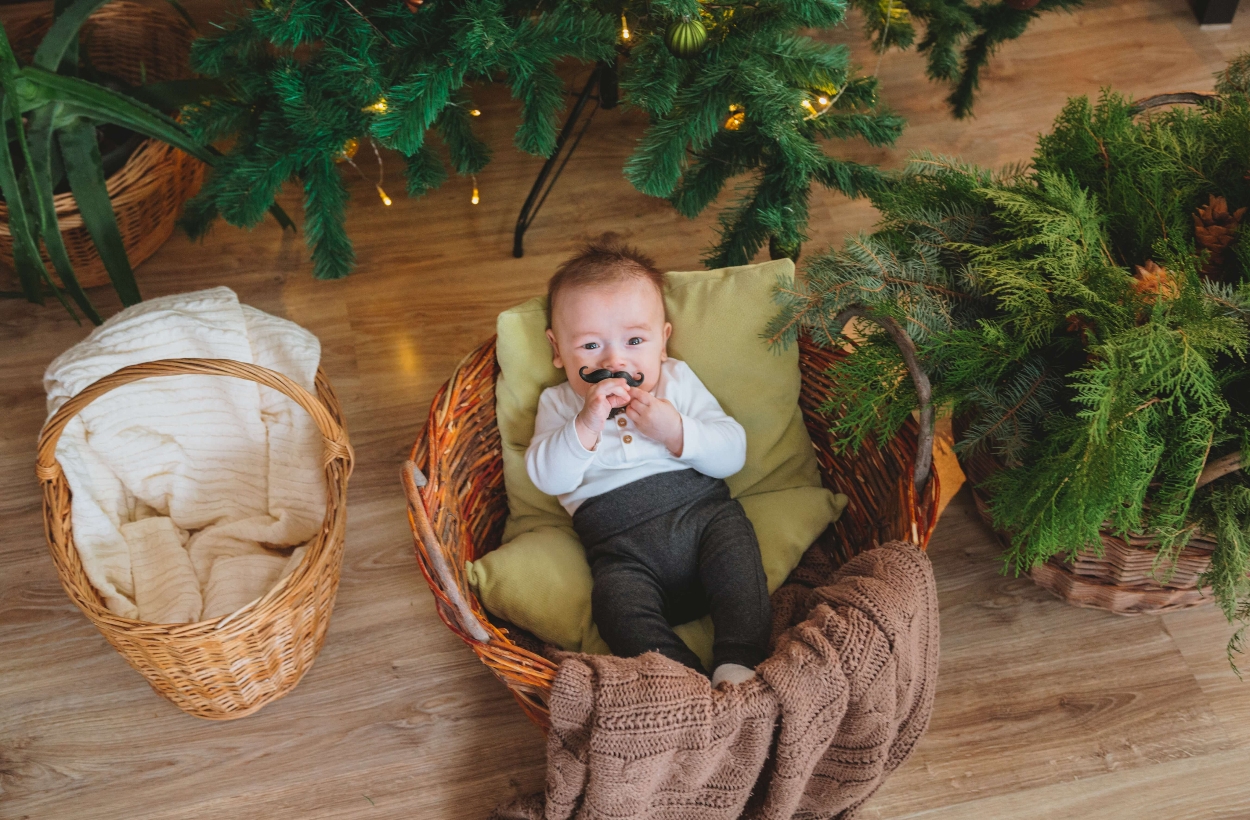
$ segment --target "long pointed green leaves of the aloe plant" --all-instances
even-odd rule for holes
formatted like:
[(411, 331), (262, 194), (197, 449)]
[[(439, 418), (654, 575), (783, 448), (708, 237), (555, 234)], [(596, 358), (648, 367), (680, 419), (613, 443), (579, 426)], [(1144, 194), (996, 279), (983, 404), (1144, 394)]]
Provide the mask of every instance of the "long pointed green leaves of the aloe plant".
[[(169, 115), (136, 96), (76, 76), (79, 29), (108, 1), (58, 2), (56, 19), (29, 66), (18, 64), (8, 32), (0, 25), (0, 121), (5, 129), (5, 139), (0, 139), (0, 195), (9, 209), (14, 266), (21, 290), (28, 300), (39, 304), (44, 302), (45, 290), (51, 290), (75, 320), (74, 305), (78, 305), (95, 324), (100, 322), (100, 315), (74, 275), (56, 224), (52, 194), (61, 174), (121, 302), (129, 306), (142, 299), (105, 188), (96, 126), (112, 124), (130, 129), (210, 165), (220, 156)], [(291, 228), (280, 209), (274, 215), (284, 228)], [(40, 259), (40, 239), (62, 286), (58, 286)]]

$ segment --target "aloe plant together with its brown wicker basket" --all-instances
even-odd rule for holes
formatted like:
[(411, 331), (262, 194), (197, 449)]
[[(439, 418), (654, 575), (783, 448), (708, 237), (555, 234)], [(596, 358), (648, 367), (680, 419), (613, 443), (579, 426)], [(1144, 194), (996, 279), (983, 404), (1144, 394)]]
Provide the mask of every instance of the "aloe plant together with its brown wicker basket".
[(191, 28), (105, 2), (65, 4), (11, 39), (0, 30), (0, 262), (26, 299), (51, 292), (72, 314), (68, 296), (96, 322), (82, 289), (111, 281), (122, 304), (139, 301), (131, 266), (169, 239), (211, 160), (166, 112), (201, 85)]

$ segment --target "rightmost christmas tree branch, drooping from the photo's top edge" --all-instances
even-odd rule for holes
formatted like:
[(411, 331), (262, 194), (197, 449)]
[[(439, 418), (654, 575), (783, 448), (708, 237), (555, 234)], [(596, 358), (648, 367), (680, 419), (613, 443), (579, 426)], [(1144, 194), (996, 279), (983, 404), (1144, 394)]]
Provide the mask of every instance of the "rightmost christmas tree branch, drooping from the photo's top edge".
[(1046, 11), (1071, 10), (1084, 0), (1041, 0), (1029, 10), (1006, 2), (969, 0), (851, 0), (865, 18), (868, 36), (878, 50), (906, 49), (915, 42), (915, 21), (925, 35), (916, 50), (926, 58), (930, 79), (951, 86), (946, 102), (959, 119), (972, 112), (981, 69), (994, 51), (1015, 40)]

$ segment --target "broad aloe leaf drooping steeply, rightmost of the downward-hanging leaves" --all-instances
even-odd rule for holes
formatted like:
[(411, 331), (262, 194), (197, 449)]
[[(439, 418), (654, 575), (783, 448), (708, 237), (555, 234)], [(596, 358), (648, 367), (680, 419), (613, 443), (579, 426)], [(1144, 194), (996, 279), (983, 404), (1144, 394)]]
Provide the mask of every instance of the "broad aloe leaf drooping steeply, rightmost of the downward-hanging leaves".
[(56, 131), (56, 139), (61, 145), (65, 174), (70, 179), (70, 190), (74, 191), (82, 224), (91, 234), (109, 279), (122, 305), (138, 305), (144, 298), (139, 294), (135, 271), (130, 268), (130, 258), (118, 229), (118, 215), (109, 200), (95, 126), (86, 120), (76, 120)]

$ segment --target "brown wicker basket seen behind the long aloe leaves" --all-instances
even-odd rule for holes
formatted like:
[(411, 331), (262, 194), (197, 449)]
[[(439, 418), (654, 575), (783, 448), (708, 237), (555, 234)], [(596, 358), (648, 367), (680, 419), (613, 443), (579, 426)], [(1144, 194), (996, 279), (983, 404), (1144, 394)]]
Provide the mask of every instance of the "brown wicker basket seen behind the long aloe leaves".
[[(30, 62), (51, 24), (51, 15), (40, 15), (12, 32), (14, 51), (20, 61)], [(140, 85), (145, 80), (158, 82), (190, 78), (188, 58), (194, 39), (190, 26), (171, 14), (114, 0), (82, 25), (80, 42), (96, 70)], [(204, 172), (204, 164), (198, 159), (160, 140), (145, 140), (121, 170), (108, 179), (109, 199), (112, 200), (131, 266), (138, 268), (170, 238), (182, 204), (200, 190)], [(59, 194), (54, 202), (56, 224), (79, 282), (84, 288), (109, 284), (109, 271), (82, 224), (74, 195)], [(56, 276), (46, 250), (40, 248), (40, 254), (48, 270)], [(2, 202), (0, 262), (12, 271), (12, 235), (9, 232), (9, 211)], [(10, 286), (16, 286), (11, 274), (10, 279)]]

